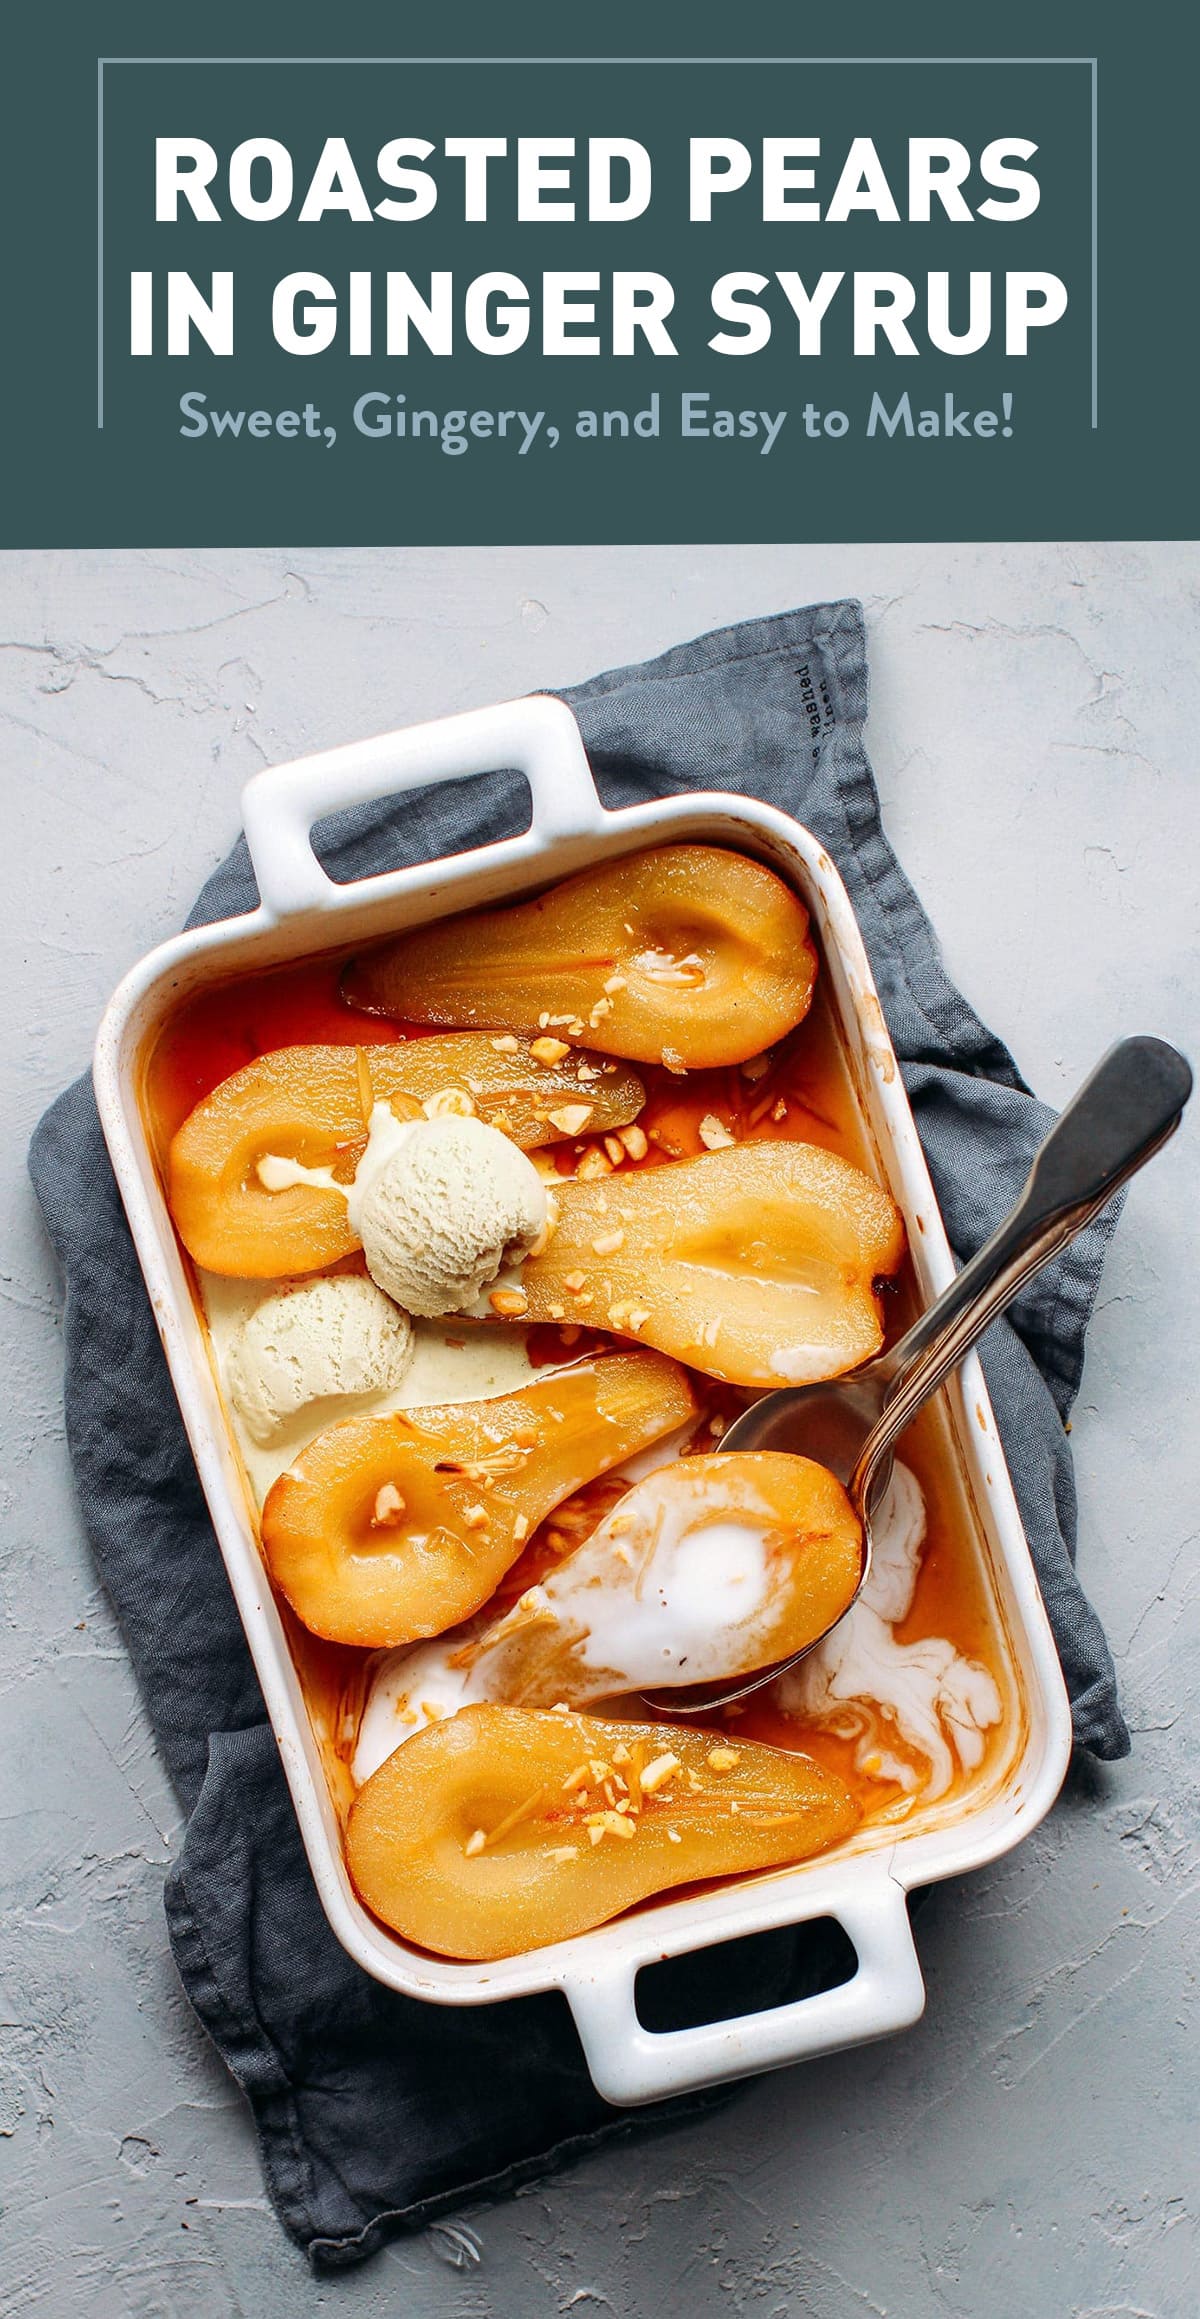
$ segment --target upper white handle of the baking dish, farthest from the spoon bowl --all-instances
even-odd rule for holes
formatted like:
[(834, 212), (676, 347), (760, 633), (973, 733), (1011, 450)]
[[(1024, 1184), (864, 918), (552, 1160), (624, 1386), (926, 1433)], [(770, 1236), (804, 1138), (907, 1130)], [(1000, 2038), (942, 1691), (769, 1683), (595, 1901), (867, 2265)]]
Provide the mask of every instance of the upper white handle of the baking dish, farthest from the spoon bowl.
[[(534, 805), (529, 830), (511, 846), (525, 851), (550, 837), (578, 837), (603, 814), (580, 728), (552, 693), (439, 717), (255, 772), (241, 793), (241, 814), (262, 909), (272, 918), (292, 918), (327, 909), (334, 895), (344, 902), (355, 890), (337, 886), (313, 853), (313, 821), (325, 814), (434, 782), (506, 770), (525, 775)], [(501, 846), (487, 851), (499, 856)], [(360, 884), (376, 888), (378, 879)]]

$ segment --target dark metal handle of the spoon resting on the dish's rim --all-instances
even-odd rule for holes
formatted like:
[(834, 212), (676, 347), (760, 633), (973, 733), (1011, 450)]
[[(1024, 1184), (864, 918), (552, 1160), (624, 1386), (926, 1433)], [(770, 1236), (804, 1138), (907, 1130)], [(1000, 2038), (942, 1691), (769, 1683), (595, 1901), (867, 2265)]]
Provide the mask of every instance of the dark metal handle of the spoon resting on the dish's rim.
[(1012, 1215), (889, 1354), (889, 1398), (850, 1484), (856, 1503), (984, 1329), (1174, 1134), (1188, 1095), (1191, 1067), (1165, 1039), (1121, 1039), (1096, 1064), (1044, 1139)]

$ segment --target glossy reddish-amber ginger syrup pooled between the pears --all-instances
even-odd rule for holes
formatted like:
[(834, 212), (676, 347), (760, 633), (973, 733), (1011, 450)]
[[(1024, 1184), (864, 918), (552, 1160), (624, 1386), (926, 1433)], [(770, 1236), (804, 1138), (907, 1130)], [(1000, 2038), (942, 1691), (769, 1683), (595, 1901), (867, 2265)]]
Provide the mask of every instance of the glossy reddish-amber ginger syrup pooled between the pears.
[[(153, 1148), (162, 1164), (167, 1146), (188, 1111), (209, 1095), (223, 1078), (279, 1046), (344, 1044), (364, 1046), (404, 1037), (427, 1037), (420, 1025), (364, 1018), (353, 1013), (339, 995), (339, 976), (346, 953), (332, 953), (316, 962), (281, 967), (265, 974), (239, 976), (183, 1002), (160, 1032), (144, 1078), (144, 1102), (151, 1125)], [(641, 1067), (648, 1102), (638, 1118), (648, 1136), (641, 1162), (622, 1157), (620, 1166), (652, 1169), (673, 1160), (696, 1157), (713, 1148), (715, 1139), (731, 1141), (778, 1141), (801, 1139), (819, 1143), (840, 1157), (875, 1173), (873, 1153), (866, 1143), (859, 1104), (843, 1053), (840, 1034), (829, 1004), (824, 981), (805, 1023), (782, 1041), (771, 1060), (752, 1064), (671, 1074), (657, 1064)], [(599, 1139), (559, 1143), (552, 1160), (559, 1173), (569, 1176), (587, 1150), (603, 1150)], [(355, 1259), (350, 1259), (353, 1264)], [(248, 1287), (248, 1285), (246, 1285)], [(255, 1285), (258, 1287), (258, 1285)], [(896, 1285), (884, 1285), (887, 1338), (896, 1340), (917, 1310), (912, 1266), (905, 1262)], [(202, 1299), (197, 1292), (197, 1306)], [(469, 1326), (464, 1324), (464, 1333)], [(525, 1340), (529, 1368), (548, 1368), (587, 1357), (587, 1352), (613, 1345), (613, 1338), (583, 1326), (536, 1326)], [(736, 1387), (694, 1377), (701, 1403), (701, 1424), (692, 1447), (710, 1449), (724, 1426), (752, 1398)], [(949, 1419), (940, 1403), (926, 1408), (903, 1440), (903, 1461), (915, 1473), (926, 1500), (926, 1542), (908, 1616), (894, 1635), (901, 1644), (942, 1637), (956, 1653), (979, 1663), (1003, 1700), (1000, 1721), (984, 1735), (984, 1760), (975, 1772), (956, 1774), (952, 1793), (966, 1781), (986, 1776), (1000, 1751), (1007, 1753), (1007, 1730), (1017, 1714), (1007, 1653), (998, 1642), (998, 1609), (986, 1572), (977, 1519), (959, 1477), (952, 1447)], [(592, 1533), (599, 1519), (615, 1505), (624, 1482), (603, 1475), (585, 1484), (559, 1505), (534, 1533), (520, 1561), (501, 1579), (492, 1609), (501, 1612), (522, 1589), (536, 1584), (548, 1570)], [(248, 1486), (251, 1503), (258, 1491)], [(330, 1793), (344, 1818), (353, 1800), (350, 1760), (357, 1728), (378, 1667), (378, 1653), (341, 1644), (320, 1642), (309, 1635), (285, 1609), (285, 1630), (292, 1660), (309, 1702), (313, 1730), (318, 1735)], [(641, 1702), (615, 1702), (615, 1714), (638, 1714)], [(861, 1746), (854, 1735), (831, 1728), (826, 1718), (810, 1721), (782, 1709), (775, 1691), (764, 1691), (743, 1707), (731, 1707), (713, 1718), (722, 1732), (738, 1732), (787, 1751), (803, 1751), (847, 1779), (863, 1818), (889, 1818), (910, 1809), (905, 1788), (887, 1776), (863, 1776), (856, 1755)], [(905, 1758), (903, 1742), (889, 1730), (891, 1753)], [(912, 1765), (912, 1758), (910, 1758)], [(919, 1769), (919, 1767), (917, 1767)]]

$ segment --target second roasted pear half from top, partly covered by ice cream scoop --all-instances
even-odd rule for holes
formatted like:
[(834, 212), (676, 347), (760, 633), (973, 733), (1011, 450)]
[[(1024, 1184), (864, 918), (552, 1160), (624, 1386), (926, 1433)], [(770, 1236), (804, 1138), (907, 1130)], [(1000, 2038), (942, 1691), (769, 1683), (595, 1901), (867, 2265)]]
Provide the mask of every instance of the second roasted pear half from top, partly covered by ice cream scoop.
[(167, 1204), (183, 1248), (207, 1271), (239, 1280), (316, 1273), (350, 1255), (357, 1238), (341, 1192), (311, 1183), (269, 1192), (258, 1162), (297, 1160), (348, 1185), (374, 1102), (420, 1118), (439, 1099), (532, 1150), (583, 1125), (624, 1127), (645, 1090), (620, 1064), (578, 1053), (548, 1064), (515, 1037), (504, 1046), (471, 1032), (364, 1048), (281, 1046), (223, 1078), (172, 1141)]

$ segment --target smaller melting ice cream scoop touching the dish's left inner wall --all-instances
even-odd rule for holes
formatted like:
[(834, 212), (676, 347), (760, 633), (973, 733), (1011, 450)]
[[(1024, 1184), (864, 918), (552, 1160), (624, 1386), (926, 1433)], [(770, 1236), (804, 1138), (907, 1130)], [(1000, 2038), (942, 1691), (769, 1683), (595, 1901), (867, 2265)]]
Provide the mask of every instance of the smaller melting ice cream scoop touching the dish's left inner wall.
[(225, 1384), (251, 1440), (267, 1445), (309, 1401), (392, 1391), (413, 1357), (413, 1324), (374, 1280), (337, 1273), (267, 1296), (241, 1322)]

